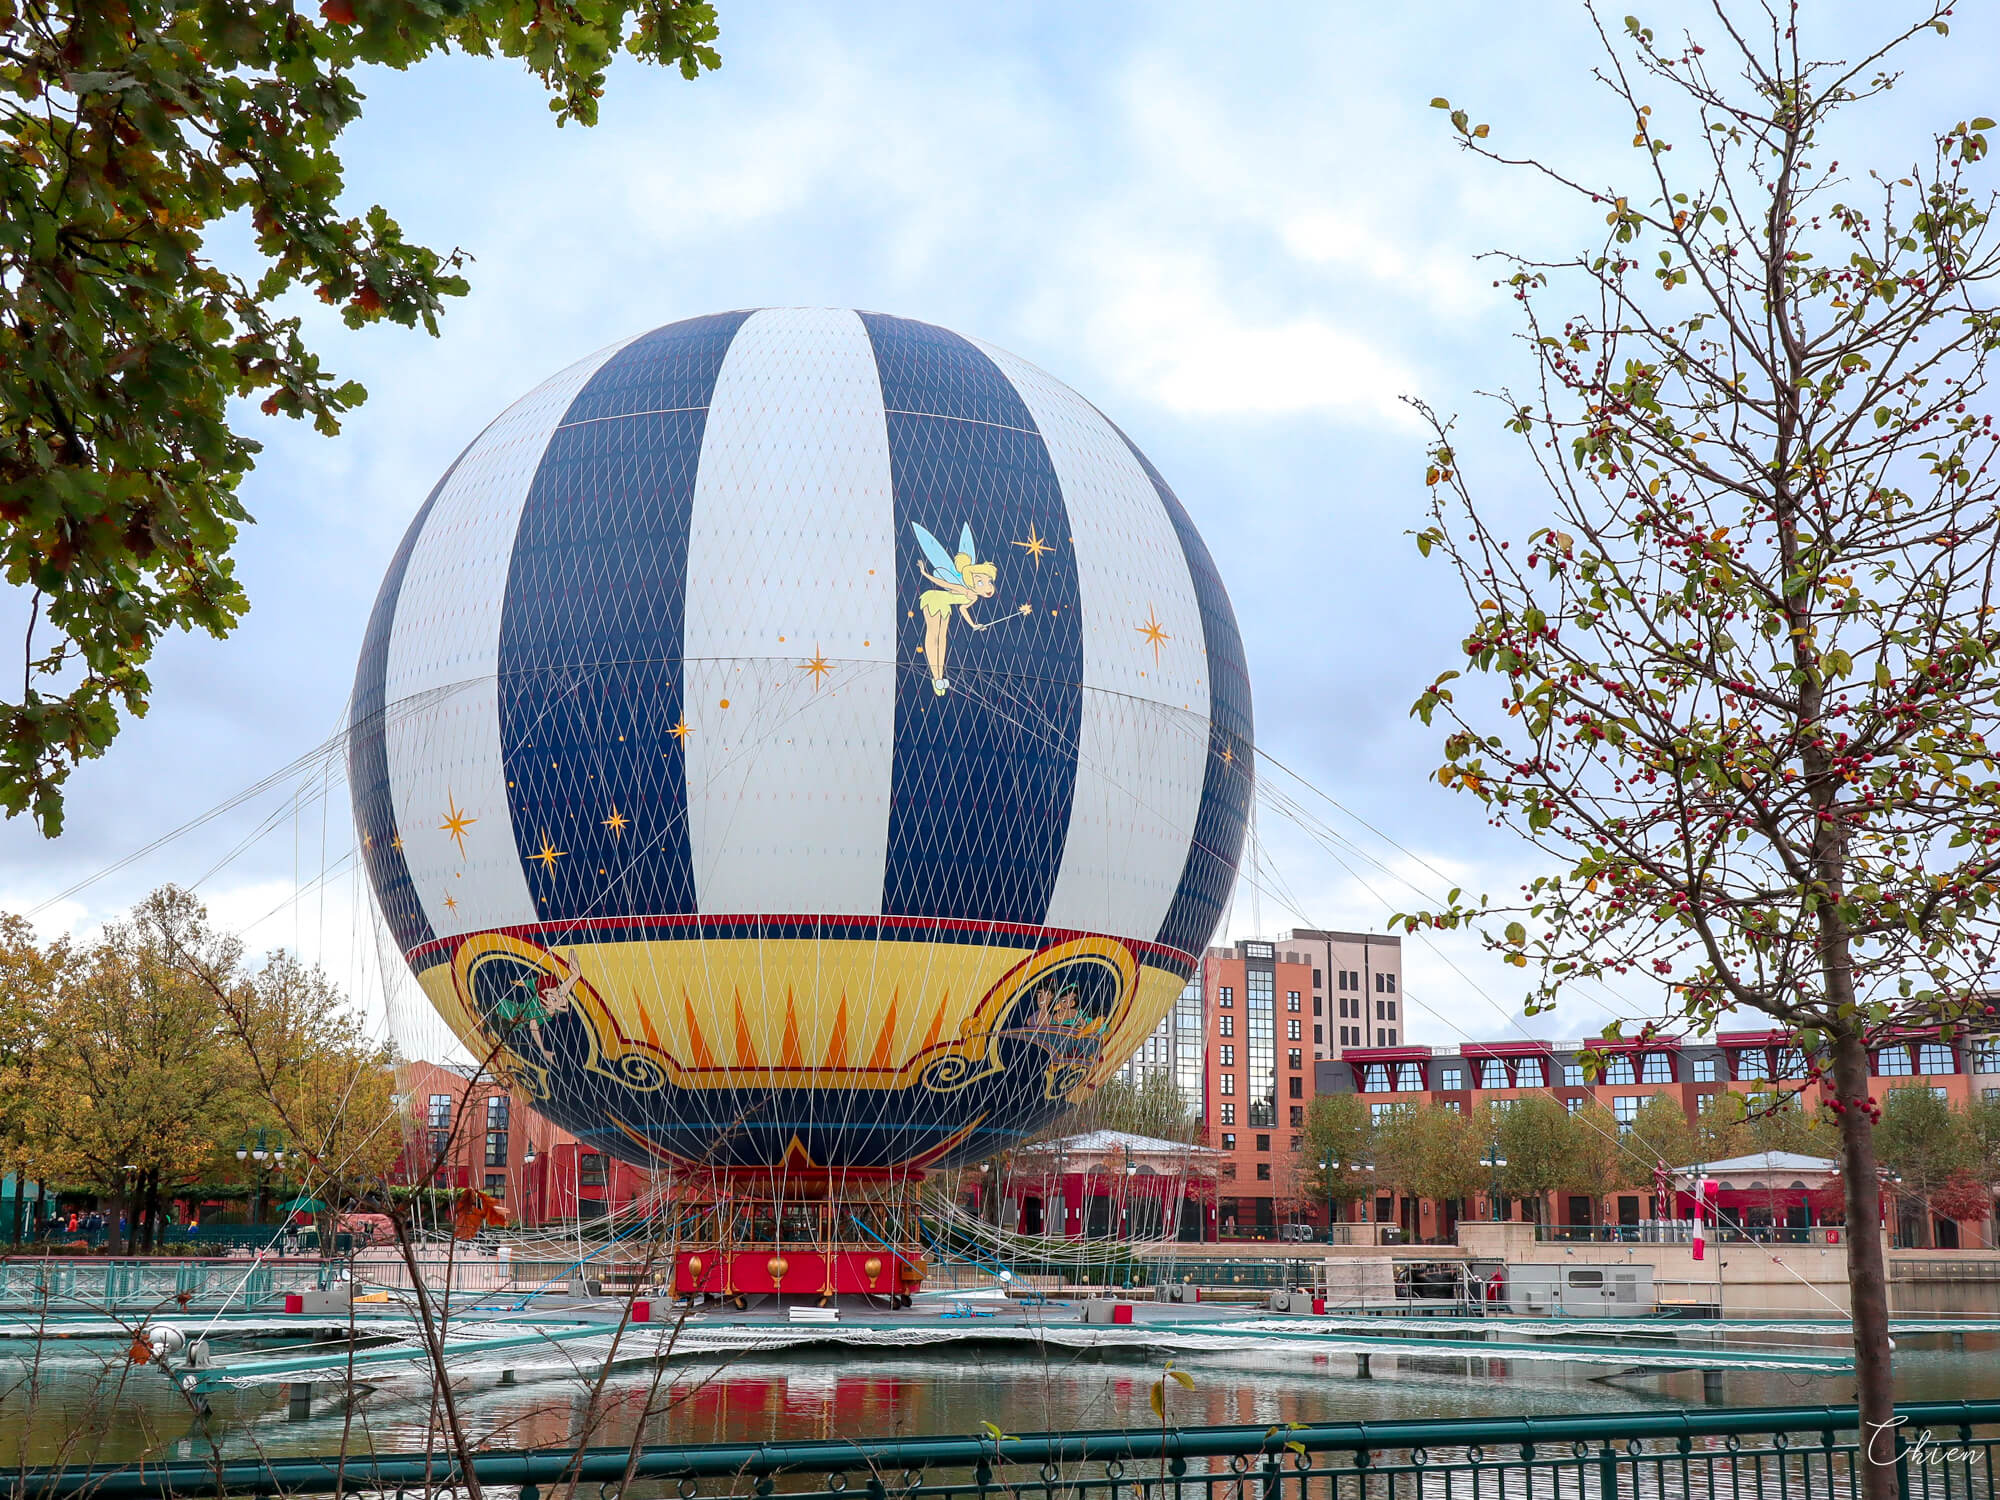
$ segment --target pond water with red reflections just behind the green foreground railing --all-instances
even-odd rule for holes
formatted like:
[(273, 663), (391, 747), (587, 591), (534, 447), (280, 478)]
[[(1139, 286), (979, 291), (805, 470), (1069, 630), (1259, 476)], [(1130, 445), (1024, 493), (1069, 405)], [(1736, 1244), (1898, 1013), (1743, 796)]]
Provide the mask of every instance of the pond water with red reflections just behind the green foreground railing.
[[(1900, 1400), (2000, 1398), (2000, 1336), (1966, 1334), (1966, 1352), (1944, 1336), (1904, 1338), (1896, 1354)], [(0, 1464), (124, 1462), (148, 1456), (324, 1454), (342, 1442), (356, 1452), (414, 1452), (426, 1446), (430, 1404), (414, 1386), (360, 1392), (342, 1404), (322, 1384), (302, 1412), (284, 1386), (224, 1392), (212, 1416), (196, 1418), (186, 1400), (150, 1368), (132, 1368), (122, 1348), (66, 1346), (44, 1362), (40, 1380), (8, 1362), (0, 1396)], [(1190, 1354), (1176, 1360), (1194, 1390), (1174, 1390), (1178, 1426), (1238, 1422), (1430, 1420), (1452, 1416), (1548, 1416), (1584, 1410), (1704, 1406), (1700, 1372), (1610, 1374), (1606, 1366), (1554, 1366), (1520, 1360), (1438, 1354), (1390, 1360), (1376, 1356), (1374, 1380), (1354, 1376), (1348, 1356)], [(972, 1434), (982, 1422), (1006, 1432), (1048, 1428), (1154, 1426), (1148, 1390), (1152, 1364), (1096, 1354), (1048, 1360), (1018, 1350), (962, 1348), (954, 1356), (868, 1358), (814, 1350), (784, 1358), (682, 1364), (652, 1390), (650, 1370), (612, 1376), (600, 1444), (630, 1442), (648, 1398), (646, 1442), (766, 1442), (800, 1438), (880, 1438)], [(1722, 1378), (1728, 1406), (1794, 1406), (1852, 1400), (1848, 1376), (1732, 1370)], [(536, 1380), (500, 1386), (490, 1378), (464, 1390), (462, 1410), (478, 1440), (502, 1448), (570, 1442), (584, 1426), (582, 1380)], [(664, 1410), (662, 1410), (664, 1408)]]

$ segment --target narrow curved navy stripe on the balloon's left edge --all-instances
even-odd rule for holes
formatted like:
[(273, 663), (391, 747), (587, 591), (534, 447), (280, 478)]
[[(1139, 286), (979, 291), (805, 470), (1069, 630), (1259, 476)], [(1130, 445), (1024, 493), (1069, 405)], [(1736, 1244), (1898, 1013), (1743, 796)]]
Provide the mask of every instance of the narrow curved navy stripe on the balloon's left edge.
[(396, 600), (402, 596), (402, 576), (410, 568), (416, 538), (424, 534), (430, 508), (468, 452), (472, 452), (472, 444), (466, 444), (464, 452), (444, 470), (444, 478), (424, 496), (416, 520), (410, 522), (410, 530), (396, 546), (396, 556), (388, 562), (382, 592), (376, 594), (374, 610), (368, 614), (368, 630), (362, 632), (362, 660), (354, 668), (354, 702), (348, 708), (348, 794), (354, 798), (362, 862), (368, 866), (368, 884), (382, 908), (382, 920), (388, 922), (388, 930), (404, 954), (434, 942), (436, 934), (430, 930), (424, 902), (410, 880), (410, 866), (402, 858), (396, 800), (388, 786), (388, 638), (396, 628)]

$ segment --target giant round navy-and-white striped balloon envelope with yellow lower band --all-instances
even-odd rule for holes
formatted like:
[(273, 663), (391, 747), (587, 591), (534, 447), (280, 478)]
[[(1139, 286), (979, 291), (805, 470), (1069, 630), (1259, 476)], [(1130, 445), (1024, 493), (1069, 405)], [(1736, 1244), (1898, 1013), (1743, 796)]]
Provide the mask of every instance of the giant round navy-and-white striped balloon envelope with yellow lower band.
[(382, 916), (586, 1144), (942, 1166), (1180, 994), (1236, 874), (1250, 686), (1166, 480), (1002, 350), (690, 318), (438, 480), (354, 684)]

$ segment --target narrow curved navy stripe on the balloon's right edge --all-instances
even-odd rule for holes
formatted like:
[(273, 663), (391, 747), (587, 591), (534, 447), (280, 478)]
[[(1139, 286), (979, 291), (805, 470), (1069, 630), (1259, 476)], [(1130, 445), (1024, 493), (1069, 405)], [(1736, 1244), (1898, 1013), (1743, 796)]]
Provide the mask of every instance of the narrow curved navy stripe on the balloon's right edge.
[(1194, 844), (1180, 872), (1180, 888), (1154, 936), (1154, 942), (1166, 948), (1200, 954), (1214, 936), (1222, 904), (1236, 882), (1250, 796), (1256, 790), (1250, 668), (1244, 662), (1244, 640), (1236, 632), (1236, 610), (1230, 608), (1208, 544), (1152, 460), (1124, 432), (1118, 436), (1144, 466), (1152, 488), (1160, 492), (1160, 504), (1166, 506), (1168, 520), (1180, 536), (1188, 576), (1194, 580), (1194, 602), (1202, 612), (1202, 640), (1208, 650), (1208, 768), (1202, 774), (1202, 806), (1194, 816)]

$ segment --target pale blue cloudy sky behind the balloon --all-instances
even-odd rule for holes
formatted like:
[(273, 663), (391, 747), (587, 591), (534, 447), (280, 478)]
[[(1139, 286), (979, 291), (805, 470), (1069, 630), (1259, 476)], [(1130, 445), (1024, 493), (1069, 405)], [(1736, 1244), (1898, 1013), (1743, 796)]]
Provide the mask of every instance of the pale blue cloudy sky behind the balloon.
[[(268, 444), (240, 548), (252, 614), (228, 642), (164, 646), (154, 712), (76, 776), (62, 840), (0, 828), (0, 902), (86, 930), (160, 880), (202, 882), (252, 946), (296, 944), (372, 986), (338, 768), (310, 762), (144, 850), (336, 734), (382, 568), (486, 420), (616, 338), (768, 304), (876, 308), (992, 340), (1110, 412), (1172, 480), (1244, 626), (1260, 748), (1296, 774), (1264, 772), (1286, 794), (1260, 812), (1236, 934), (1380, 930), (1446, 878), (1508, 890), (1520, 852), (1426, 784), (1436, 746), (1406, 716), (1452, 660), (1462, 610), (1406, 536), (1424, 454), (1402, 398), (1466, 416), (1480, 486), (1526, 524), (1532, 494), (1476, 394), (1524, 370), (1478, 256), (1574, 246), (1594, 226), (1456, 152), (1428, 100), (1446, 94), (1498, 142), (1586, 178), (1628, 170), (1630, 122), (1590, 82), (1588, 14), (720, 8), (720, 72), (688, 84), (620, 62), (596, 130), (554, 128), (508, 62), (366, 82), (350, 200), (472, 252), (472, 296), (438, 340), (348, 334), (302, 306), (368, 406), (336, 440), (244, 414)], [(1836, 54), (1880, 24), (1878, 6), (1814, 10)], [(1954, 26), (1912, 50), (1920, 76), (1868, 118), (1884, 166), (1932, 126), (2000, 114), (1994, 24)], [(1408, 970), (1414, 1040), (1510, 1028), (1518, 984), (1470, 944), (1410, 944)], [(1580, 998), (1532, 1028), (1582, 1036), (1598, 1020)]]

